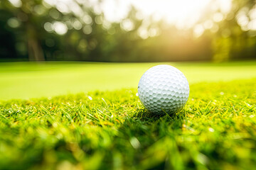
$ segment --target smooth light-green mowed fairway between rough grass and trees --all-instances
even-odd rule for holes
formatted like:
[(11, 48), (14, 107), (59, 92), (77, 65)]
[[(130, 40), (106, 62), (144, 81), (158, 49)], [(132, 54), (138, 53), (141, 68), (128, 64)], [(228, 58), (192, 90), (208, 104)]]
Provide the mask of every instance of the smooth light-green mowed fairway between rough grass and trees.
[(256, 77), (256, 62), (0, 63), (0, 101), (136, 88), (142, 74), (156, 64), (171, 64), (177, 67), (186, 75), (189, 84)]

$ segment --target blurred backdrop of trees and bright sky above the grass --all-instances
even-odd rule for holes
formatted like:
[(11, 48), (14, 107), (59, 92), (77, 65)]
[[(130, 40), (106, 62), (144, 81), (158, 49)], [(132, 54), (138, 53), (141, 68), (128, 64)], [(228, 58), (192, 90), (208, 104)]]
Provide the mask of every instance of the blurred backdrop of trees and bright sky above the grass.
[(1, 0), (1, 61), (256, 58), (254, 0)]

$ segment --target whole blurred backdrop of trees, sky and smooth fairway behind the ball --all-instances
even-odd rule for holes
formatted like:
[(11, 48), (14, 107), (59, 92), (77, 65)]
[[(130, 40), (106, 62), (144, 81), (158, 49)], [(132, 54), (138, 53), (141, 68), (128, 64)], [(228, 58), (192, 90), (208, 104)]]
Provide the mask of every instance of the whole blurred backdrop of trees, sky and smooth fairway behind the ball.
[(254, 0), (0, 1), (0, 100), (136, 88), (162, 62), (250, 79), (255, 59)]

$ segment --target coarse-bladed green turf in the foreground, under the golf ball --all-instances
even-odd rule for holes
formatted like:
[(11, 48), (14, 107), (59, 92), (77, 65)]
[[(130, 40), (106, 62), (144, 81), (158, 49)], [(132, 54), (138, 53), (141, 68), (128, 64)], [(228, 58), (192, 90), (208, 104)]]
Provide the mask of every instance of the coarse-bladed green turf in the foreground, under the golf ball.
[(134, 88), (1, 101), (0, 169), (254, 169), (255, 81), (194, 83), (162, 117)]

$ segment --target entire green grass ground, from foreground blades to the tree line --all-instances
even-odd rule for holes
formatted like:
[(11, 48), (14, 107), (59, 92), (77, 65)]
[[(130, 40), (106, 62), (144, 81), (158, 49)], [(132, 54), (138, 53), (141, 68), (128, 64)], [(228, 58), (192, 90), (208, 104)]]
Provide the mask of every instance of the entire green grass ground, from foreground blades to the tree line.
[[(190, 85), (174, 115), (137, 84), (170, 64)], [(254, 169), (256, 62), (0, 63), (0, 169)]]

